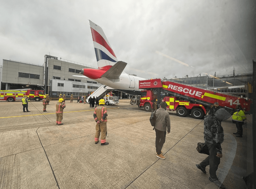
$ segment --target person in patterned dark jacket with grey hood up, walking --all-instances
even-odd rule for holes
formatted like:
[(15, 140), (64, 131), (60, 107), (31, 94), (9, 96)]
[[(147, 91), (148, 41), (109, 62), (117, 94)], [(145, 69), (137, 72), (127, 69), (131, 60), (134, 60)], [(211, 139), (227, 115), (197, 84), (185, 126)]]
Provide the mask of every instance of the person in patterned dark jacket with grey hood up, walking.
[(221, 121), (228, 119), (231, 115), (224, 108), (220, 108), (215, 114), (209, 114), (204, 118), (204, 139), (209, 150), (209, 156), (205, 158), (200, 164), (196, 164), (197, 168), (206, 174), (205, 167), (210, 166), (209, 180), (217, 185), (219, 188), (225, 188), (217, 175), (220, 158), (222, 158), (221, 143), (224, 140), (223, 128)]

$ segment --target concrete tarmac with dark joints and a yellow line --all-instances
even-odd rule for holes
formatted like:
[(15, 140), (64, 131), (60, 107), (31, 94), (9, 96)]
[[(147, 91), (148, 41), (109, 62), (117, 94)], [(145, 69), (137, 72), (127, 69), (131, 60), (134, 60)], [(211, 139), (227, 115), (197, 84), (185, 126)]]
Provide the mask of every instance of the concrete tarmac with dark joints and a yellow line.
[[(218, 187), (195, 164), (207, 157), (196, 150), (203, 139), (203, 120), (169, 112), (171, 132), (162, 151), (155, 153), (155, 131), (150, 112), (129, 105), (129, 99), (107, 107), (107, 146), (94, 143), (94, 108), (66, 101), (64, 123), (56, 125), (57, 101), (43, 112), (42, 101), (29, 102), (31, 112), (23, 112), (21, 102), (0, 102), (0, 189), (42, 188), (177, 188)], [(243, 138), (231, 118), (222, 122), (223, 158), (217, 176), (226, 188), (245, 189), (247, 175), (247, 127)], [(250, 172), (249, 172), (250, 173)]]

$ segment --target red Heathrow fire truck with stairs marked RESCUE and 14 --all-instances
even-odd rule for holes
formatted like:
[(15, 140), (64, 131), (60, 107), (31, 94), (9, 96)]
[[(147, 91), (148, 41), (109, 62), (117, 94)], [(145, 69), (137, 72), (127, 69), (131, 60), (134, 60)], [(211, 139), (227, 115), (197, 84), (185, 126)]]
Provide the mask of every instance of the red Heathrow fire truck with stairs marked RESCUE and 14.
[[(251, 99), (219, 93), (182, 83), (161, 81), (161, 79), (149, 79), (139, 81), (141, 95), (132, 99), (131, 103), (144, 107), (145, 111), (156, 109), (161, 98), (167, 103), (167, 110), (176, 111), (178, 116), (191, 114), (195, 119), (201, 119), (206, 115), (214, 102), (225, 108), (232, 115), (235, 106), (241, 104), (243, 109), (250, 113)], [(158, 99), (158, 100), (157, 100)], [(160, 101), (159, 101), (160, 100)]]

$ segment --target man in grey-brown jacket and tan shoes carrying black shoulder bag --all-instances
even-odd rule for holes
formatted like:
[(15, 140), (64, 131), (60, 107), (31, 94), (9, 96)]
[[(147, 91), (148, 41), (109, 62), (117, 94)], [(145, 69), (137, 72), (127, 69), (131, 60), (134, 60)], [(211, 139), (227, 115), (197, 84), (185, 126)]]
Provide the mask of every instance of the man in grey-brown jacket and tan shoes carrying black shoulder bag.
[(155, 150), (158, 158), (165, 159), (162, 147), (165, 143), (166, 129), (167, 134), (171, 130), (170, 116), (165, 111), (165, 102), (160, 102), (160, 108), (155, 111)]

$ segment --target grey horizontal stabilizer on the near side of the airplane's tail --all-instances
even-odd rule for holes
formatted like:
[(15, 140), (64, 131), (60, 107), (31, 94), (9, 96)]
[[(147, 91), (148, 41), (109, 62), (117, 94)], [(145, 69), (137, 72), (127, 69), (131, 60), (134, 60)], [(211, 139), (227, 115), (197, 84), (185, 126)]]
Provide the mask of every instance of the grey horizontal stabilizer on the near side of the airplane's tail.
[(106, 77), (110, 80), (119, 79), (126, 65), (127, 65), (126, 62), (118, 61), (109, 70), (107, 70), (101, 77)]

